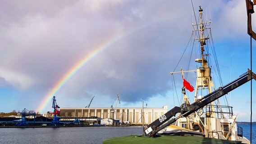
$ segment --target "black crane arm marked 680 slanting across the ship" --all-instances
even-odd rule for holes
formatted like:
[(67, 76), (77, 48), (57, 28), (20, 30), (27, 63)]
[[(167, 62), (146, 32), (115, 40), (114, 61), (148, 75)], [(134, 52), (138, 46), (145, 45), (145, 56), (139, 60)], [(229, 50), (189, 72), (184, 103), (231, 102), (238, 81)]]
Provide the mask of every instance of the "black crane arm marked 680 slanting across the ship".
[[(157, 132), (174, 123), (180, 117), (187, 117), (188, 115), (196, 112), (200, 108), (203, 108), (207, 104), (219, 99), (223, 95), (229, 93), (230, 91), (238, 88), (239, 86), (245, 84), (252, 79), (256, 80), (256, 74), (248, 69), (247, 72), (238, 77), (238, 79), (231, 81), (229, 84), (219, 87), (217, 90), (205, 95), (201, 99), (197, 99), (196, 102), (188, 104), (186, 107), (174, 107), (164, 115), (153, 121), (151, 124), (144, 128), (143, 135), (148, 137), (155, 137)], [(175, 117), (177, 113), (180, 113), (178, 117)], [(172, 118), (174, 117), (174, 118)]]

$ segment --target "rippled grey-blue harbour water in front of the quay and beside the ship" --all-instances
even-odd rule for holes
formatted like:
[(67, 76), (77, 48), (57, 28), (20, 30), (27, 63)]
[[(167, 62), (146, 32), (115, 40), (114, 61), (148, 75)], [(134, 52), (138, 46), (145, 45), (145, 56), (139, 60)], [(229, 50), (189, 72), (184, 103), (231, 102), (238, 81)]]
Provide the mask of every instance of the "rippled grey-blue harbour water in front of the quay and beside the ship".
[[(239, 125), (250, 139), (250, 126)], [(142, 126), (0, 128), (0, 144), (102, 144), (104, 139), (142, 135)], [(252, 126), (252, 144), (256, 144), (256, 125)]]

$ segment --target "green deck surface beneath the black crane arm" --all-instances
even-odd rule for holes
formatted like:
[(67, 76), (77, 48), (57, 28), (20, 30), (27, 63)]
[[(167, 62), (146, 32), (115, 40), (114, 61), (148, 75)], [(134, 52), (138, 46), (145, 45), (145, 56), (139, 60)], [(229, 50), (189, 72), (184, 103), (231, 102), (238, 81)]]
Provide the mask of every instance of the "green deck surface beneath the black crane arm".
[(240, 141), (212, 139), (198, 136), (160, 136), (156, 138), (138, 135), (106, 139), (103, 144), (241, 144)]

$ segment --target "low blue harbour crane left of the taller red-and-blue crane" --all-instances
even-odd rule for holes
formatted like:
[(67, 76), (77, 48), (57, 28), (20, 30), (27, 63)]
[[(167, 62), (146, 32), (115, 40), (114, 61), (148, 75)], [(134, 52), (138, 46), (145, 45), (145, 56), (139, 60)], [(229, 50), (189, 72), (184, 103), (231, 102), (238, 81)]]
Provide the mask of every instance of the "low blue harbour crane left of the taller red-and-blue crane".
[(22, 118), (18, 120), (18, 122), (16, 123), (16, 126), (28, 126), (26, 117), (29, 118), (30, 116), (34, 116), (34, 122), (35, 122), (36, 112), (34, 111), (29, 111), (26, 108), (24, 108), (23, 111), (19, 112), (17, 115)]

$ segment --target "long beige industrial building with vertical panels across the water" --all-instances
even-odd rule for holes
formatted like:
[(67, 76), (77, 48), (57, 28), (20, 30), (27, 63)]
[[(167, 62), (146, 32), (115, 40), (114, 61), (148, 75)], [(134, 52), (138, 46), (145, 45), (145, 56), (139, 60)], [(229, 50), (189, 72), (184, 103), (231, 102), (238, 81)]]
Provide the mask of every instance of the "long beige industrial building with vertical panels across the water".
[[(162, 108), (60, 108), (60, 117), (101, 117), (131, 124), (150, 124), (168, 111)], [(144, 112), (144, 122), (142, 113)]]

